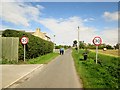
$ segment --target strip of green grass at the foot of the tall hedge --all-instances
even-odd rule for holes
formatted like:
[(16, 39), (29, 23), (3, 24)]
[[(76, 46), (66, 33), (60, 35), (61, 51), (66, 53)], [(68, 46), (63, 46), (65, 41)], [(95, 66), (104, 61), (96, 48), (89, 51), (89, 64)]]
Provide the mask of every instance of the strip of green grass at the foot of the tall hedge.
[(28, 59), (25, 62), (22, 60), (20, 60), (19, 62), (2, 60), (2, 62), (0, 62), (0, 64), (47, 64), (48, 62), (53, 60), (58, 55), (59, 55), (58, 53), (49, 53), (49, 54), (39, 56), (34, 59)]

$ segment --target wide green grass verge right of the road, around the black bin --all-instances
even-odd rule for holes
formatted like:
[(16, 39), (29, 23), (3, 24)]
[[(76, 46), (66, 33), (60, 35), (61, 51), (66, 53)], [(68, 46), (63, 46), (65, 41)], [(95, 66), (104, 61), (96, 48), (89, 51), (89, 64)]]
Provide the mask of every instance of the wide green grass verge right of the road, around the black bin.
[(87, 61), (83, 60), (84, 50), (79, 54), (73, 50), (72, 56), (75, 61), (79, 77), (83, 81), (84, 88), (118, 88), (120, 81), (119, 57), (98, 55), (98, 64), (95, 63), (95, 52), (89, 52)]

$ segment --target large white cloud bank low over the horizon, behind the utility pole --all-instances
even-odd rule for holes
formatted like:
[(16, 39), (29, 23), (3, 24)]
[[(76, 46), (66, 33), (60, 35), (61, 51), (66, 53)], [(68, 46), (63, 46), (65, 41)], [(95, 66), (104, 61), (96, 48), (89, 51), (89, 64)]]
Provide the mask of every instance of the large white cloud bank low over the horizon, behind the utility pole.
[[(56, 35), (55, 42), (57, 44), (72, 45), (73, 40), (78, 39), (78, 26), (80, 27), (80, 41), (85, 41), (85, 43), (92, 44), (93, 38), (95, 36), (100, 36), (103, 39), (103, 43), (114, 45), (118, 42), (117, 28), (107, 28), (100, 31), (95, 27), (85, 26), (84, 20), (80, 17), (69, 17), (68, 19), (46, 18), (40, 20), (39, 22)], [(53, 39), (53, 34), (51, 37)]]

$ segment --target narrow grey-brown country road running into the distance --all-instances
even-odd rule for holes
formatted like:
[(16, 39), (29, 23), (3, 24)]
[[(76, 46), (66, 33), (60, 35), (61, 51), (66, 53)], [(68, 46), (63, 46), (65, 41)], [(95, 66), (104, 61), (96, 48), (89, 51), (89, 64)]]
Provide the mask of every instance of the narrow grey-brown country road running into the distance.
[(71, 52), (67, 50), (16, 88), (82, 88)]

